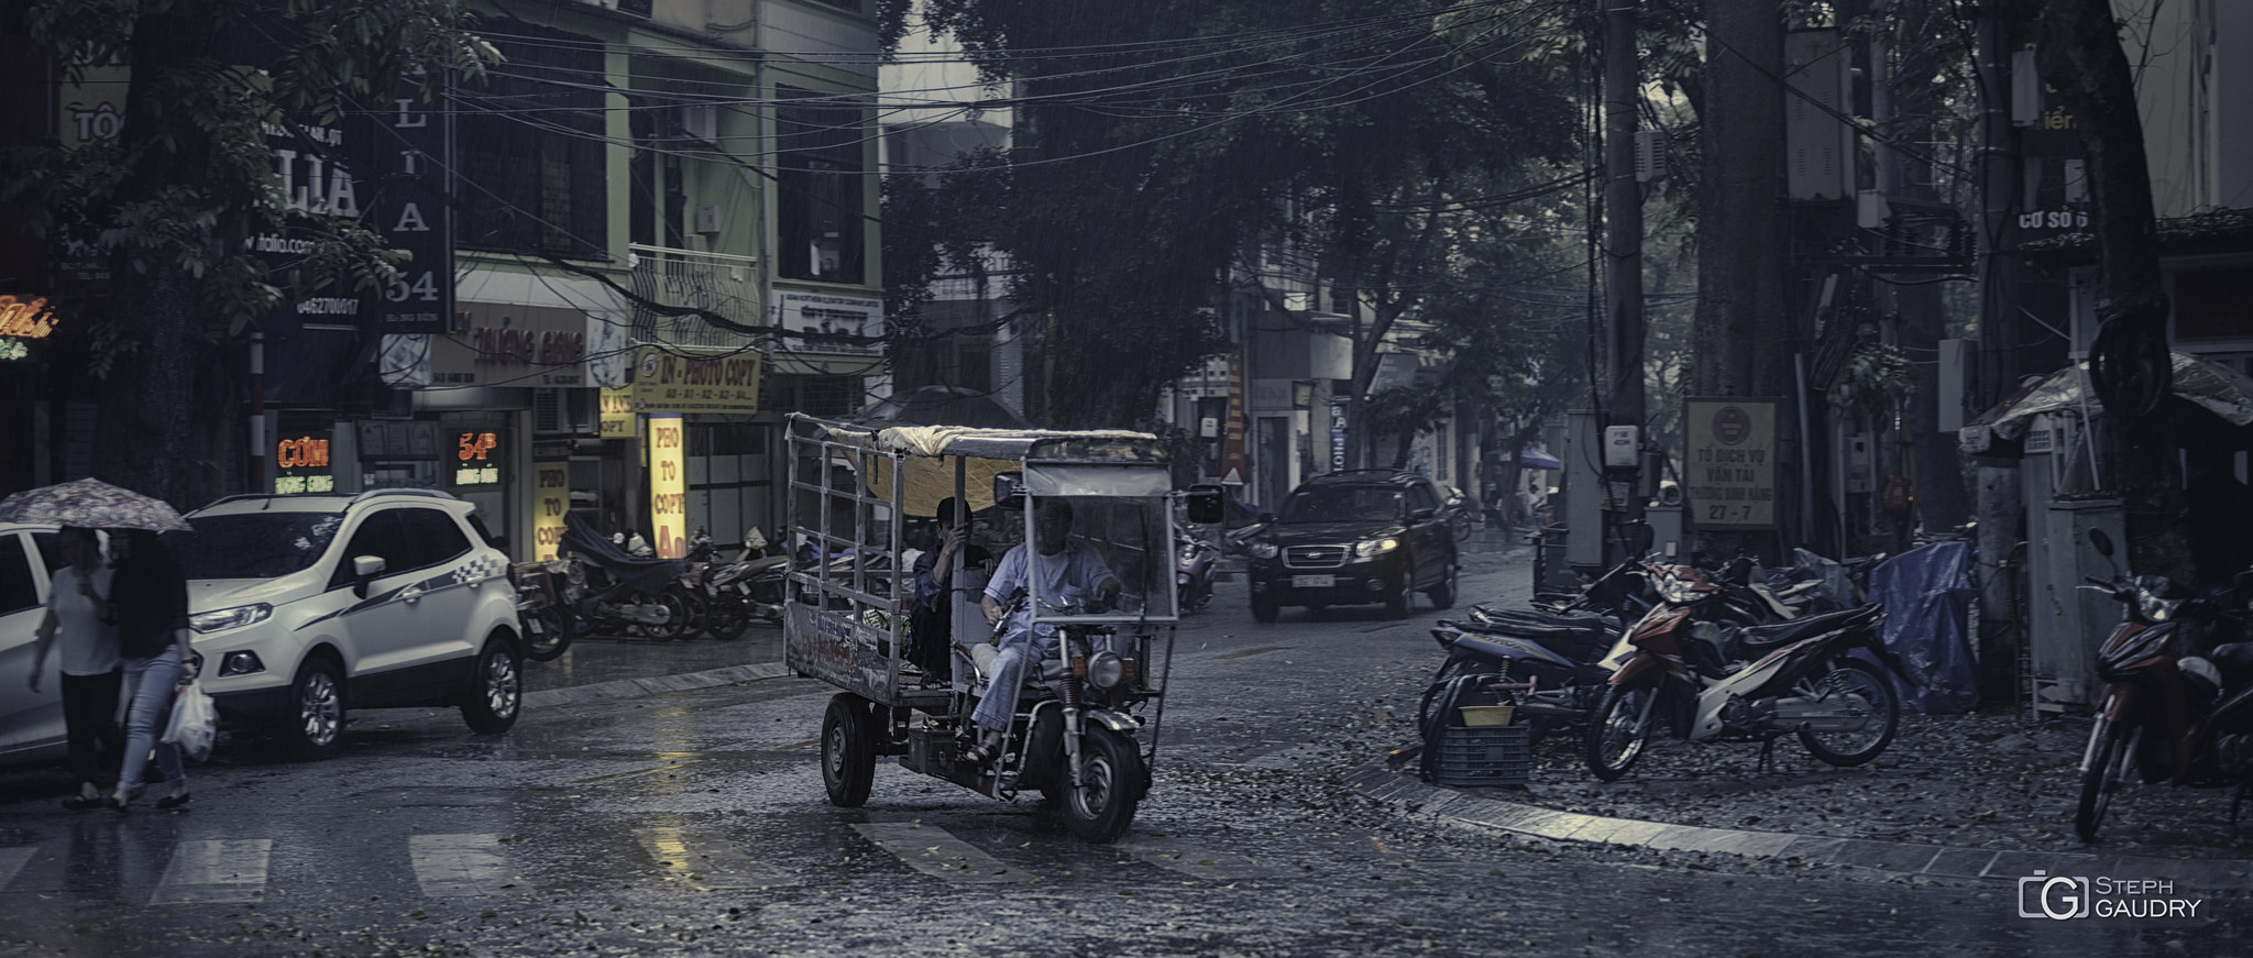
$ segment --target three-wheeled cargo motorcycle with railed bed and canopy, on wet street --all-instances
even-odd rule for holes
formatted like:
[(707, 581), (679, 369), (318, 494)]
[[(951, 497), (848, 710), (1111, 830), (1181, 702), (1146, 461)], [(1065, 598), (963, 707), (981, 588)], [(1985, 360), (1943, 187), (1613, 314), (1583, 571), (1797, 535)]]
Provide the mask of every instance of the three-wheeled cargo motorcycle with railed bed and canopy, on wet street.
[[(838, 688), (820, 735), (829, 802), (867, 802), (876, 757), (894, 755), (991, 798), (1039, 793), (1081, 839), (1124, 834), (1151, 787), (1172, 672), (1174, 503), (1214, 523), (1219, 489), (1174, 491), (1147, 433), (872, 428), (807, 415), (789, 424), (789, 471), (793, 541), (865, 559), (793, 568), (784, 595), (786, 665)], [(1023, 588), (989, 588), (971, 550), (937, 552), (953, 566), (951, 602), (933, 618), (917, 613), (906, 523), (946, 498), (1021, 541), (991, 543), (991, 559), (1003, 584)], [(1070, 541), (1050, 552), (1054, 532), (1034, 525), (1059, 500), (1070, 503)], [(996, 699), (987, 721), (998, 742), (980, 748), (973, 712), (1014, 642), (1016, 706)], [(994, 712), (1007, 715), (1005, 730)]]

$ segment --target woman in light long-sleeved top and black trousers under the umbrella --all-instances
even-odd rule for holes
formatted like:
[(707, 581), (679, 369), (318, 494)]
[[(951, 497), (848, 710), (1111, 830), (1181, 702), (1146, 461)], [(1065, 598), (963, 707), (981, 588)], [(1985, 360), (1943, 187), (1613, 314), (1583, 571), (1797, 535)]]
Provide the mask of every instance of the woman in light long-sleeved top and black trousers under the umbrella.
[(70, 771), (79, 775), (79, 793), (63, 798), (72, 811), (101, 807), (101, 791), (117, 782), (117, 757), (124, 737), (117, 733), (117, 627), (110, 618), (110, 570), (101, 566), (101, 541), (95, 530), (63, 527), (56, 536), (63, 568), (50, 579), (47, 615), (38, 620), (38, 645), (32, 647), (32, 692), (38, 692), (47, 667), (47, 647), (63, 636), (61, 692), (63, 735), (70, 744)]

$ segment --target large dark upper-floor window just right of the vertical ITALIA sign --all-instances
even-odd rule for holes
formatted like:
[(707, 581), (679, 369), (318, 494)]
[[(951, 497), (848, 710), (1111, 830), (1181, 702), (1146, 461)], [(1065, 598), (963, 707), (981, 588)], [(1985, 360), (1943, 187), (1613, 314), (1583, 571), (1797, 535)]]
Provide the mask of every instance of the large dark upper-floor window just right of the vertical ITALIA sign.
[(602, 257), (604, 194), (602, 43), (509, 20), (489, 36), (500, 54), (484, 83), (455, 97), (462, 223), (475, 250)]

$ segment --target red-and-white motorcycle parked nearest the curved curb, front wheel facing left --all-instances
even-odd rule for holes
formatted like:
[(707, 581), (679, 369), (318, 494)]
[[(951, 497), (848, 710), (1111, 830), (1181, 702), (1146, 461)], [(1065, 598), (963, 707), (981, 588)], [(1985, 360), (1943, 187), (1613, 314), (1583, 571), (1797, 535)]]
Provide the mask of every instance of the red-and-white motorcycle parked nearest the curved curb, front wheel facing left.
[(1588, 717), (1584, 753), (1595, 778), (1624, 775), (1660, 717), (1678, 739), (1760, 742), (1762, 760), (1782, 735), (1836, 766), (1870, 762), (1893, 744), (1899, 697), (1877, 665), (1850, 656), (1893, 658), (1879, 642), (1884, 606), (1735, 624), (1730, 611), (1746, 600), (1706, 570), (1654, 564), (1647, 575), (1660, 604), (1627, 631), (1633, 651)]

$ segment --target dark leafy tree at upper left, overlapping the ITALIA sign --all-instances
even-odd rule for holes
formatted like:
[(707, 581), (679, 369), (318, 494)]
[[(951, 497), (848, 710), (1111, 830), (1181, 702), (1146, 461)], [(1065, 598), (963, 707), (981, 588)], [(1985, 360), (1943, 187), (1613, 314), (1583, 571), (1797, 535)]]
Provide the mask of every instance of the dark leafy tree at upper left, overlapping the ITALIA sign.
[[(223, 347), (286, 286), (381, 289), (401, 261), (351, 219), (293, 205), (273, 138), (318, 142), (351, 97), (403, 77), (433, 95), (496, 54), (453, 0), (34, 0), (23, 16), (65, 70), (131, 70), (117, 138), (14, 149), (0, 183), (59, 261), (113, 277), (54, 298), (99, 379), (95, 476), (198, 503), (225, 476), (210, 424), (239, 399)], [(259, 232), (313, 252), (273, 268), (246, 250)]]

